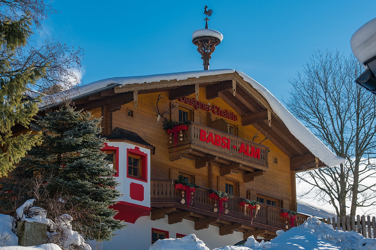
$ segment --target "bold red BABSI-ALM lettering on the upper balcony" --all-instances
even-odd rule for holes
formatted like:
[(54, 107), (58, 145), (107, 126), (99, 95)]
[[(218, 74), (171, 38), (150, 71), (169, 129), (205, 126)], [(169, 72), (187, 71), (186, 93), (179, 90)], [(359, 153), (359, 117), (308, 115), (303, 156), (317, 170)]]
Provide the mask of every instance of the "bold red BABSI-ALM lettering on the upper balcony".
[[(209, 132), (209, 134), (205, 130), (200, 130), (200, 141), (211, 143), (214, 146), (218, 146), (221, 148), (230, 149), (230, 138), (227, 138), (225, 136), (220, 136), (218, 134), (214, 134), (212, 132)], [(232, 148), (237, 149), (235, 145), (232, 146)], [(239, 154), (247, 155), (250, 157), (254, 157), (256, 159), (260, 159), (260, 149), (255, 148), (254, 146), (248, 145), (244, 142), (240, 144), (240, 147), (238, 149)]]

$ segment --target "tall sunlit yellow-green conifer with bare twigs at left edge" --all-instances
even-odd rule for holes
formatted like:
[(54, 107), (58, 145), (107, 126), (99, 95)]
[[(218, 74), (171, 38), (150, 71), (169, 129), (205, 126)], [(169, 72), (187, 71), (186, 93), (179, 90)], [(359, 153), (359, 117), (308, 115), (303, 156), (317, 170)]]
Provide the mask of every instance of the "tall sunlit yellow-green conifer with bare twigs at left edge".
[(49, 12), (54, 10), (44, 1), (0, 0), (0, 177), (41, 142), (40, 134), (14, 134), (11, 129), (28, 128), (38, 111), (40, 99), (33, 90), (79, 80), (72, 69), (80, 66), (80, 48), (74, 51), (53, 37), (42, 43), (32, 39), (33, 28), (41, 28)]

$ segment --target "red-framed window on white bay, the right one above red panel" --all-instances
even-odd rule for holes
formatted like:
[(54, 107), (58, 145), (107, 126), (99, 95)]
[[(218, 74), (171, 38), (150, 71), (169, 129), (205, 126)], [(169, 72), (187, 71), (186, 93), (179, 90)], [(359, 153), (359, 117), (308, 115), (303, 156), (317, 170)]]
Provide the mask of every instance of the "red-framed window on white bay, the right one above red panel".
[(127, 178), (147, 182), (147, 154), (138, 147), (127, 149)]

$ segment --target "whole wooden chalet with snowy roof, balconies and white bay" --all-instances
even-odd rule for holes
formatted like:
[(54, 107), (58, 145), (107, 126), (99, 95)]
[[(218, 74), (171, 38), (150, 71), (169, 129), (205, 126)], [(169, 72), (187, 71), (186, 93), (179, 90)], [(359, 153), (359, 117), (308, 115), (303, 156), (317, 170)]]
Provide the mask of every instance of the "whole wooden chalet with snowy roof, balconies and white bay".
[[(297, 209), (295, 173), (343, 161), (264, 87), (230, 69), (109, 78), (72, 99), (103, 117), (103, 150), (124, 193), (115, 208), (128, 226), (103, 249), (190, 233), (208, 247), (271, 239), (306, 219), (281, 216)], [(191, 123), (165, 130), (165, 119)], [(199, 188), (176, 189), (179, 175)], [(257, 215), (244, 199), (260, 202)]]

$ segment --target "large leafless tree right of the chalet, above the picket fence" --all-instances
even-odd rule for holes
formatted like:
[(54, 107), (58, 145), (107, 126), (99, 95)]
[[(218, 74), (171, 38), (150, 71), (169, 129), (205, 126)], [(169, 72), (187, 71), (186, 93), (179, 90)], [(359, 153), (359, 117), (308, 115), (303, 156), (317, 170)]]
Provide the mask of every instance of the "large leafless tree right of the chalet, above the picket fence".
[(312, 133), (336, 155), (346, 159), (336, 167), (299, 173), (300, 181), (313, 188), (306, 194), (329, 202), (337, 215), (346, 208), (373, 206), (376, 197), (374, 152), (376, 149), (375, 95), (355, 83), (362, 67), (354, 56), (339, 51), (317, 51), (290, 80), (285, 103)]

